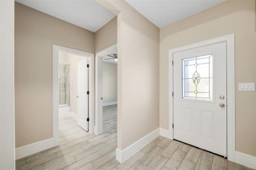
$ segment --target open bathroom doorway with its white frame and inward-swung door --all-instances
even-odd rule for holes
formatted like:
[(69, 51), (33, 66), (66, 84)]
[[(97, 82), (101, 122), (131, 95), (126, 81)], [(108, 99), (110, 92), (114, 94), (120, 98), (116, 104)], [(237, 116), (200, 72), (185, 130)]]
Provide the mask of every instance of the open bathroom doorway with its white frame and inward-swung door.
[(93, 131), (92, 57), (91, 53), (53, 46), (53, 137), (56, 146), (65, 142), (68, 135)]

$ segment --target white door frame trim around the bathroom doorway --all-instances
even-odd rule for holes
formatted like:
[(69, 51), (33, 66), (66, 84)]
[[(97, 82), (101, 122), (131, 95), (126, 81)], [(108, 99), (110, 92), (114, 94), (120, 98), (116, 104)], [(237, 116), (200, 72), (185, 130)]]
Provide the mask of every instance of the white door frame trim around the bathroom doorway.
[(53, 139), (55, 146), (59, 145), (59, 52), (89, 58), (89, 133), (93, 133), (94, 128), (94, 54), (53, 45)]

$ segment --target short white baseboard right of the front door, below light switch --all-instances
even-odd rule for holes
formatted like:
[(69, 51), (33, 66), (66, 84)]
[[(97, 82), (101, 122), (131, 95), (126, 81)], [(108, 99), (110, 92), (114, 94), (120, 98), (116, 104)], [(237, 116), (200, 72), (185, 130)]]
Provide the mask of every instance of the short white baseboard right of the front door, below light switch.
[(256, 169), (256, 157), (235, 151), (235, 162)]

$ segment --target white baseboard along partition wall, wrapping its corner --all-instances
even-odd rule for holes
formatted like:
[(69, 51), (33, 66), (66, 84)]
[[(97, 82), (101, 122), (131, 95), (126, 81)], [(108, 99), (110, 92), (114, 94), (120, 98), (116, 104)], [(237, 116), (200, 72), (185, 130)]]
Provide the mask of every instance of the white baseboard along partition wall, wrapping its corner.
[(132, 145), (126, 147), (124, 150), (115, 149), (115, 159), (118, 160), (119, 163), (125, 162), (125, 160), (129, 159), (131, 156), (136, 154), (139, 150), (141, 150), (144, 146), (148, 145), (151, 141), (159, 136), (159, 128), (147, 134), (143, 138), (139, 139), (137, 142)]

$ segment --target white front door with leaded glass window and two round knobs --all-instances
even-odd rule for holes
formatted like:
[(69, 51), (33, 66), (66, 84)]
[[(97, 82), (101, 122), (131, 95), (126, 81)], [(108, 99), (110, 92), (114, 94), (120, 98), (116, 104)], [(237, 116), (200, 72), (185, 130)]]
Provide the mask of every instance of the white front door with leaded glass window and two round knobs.
[(173, 59), (174, 139), (226, 156), (226, 42)]

